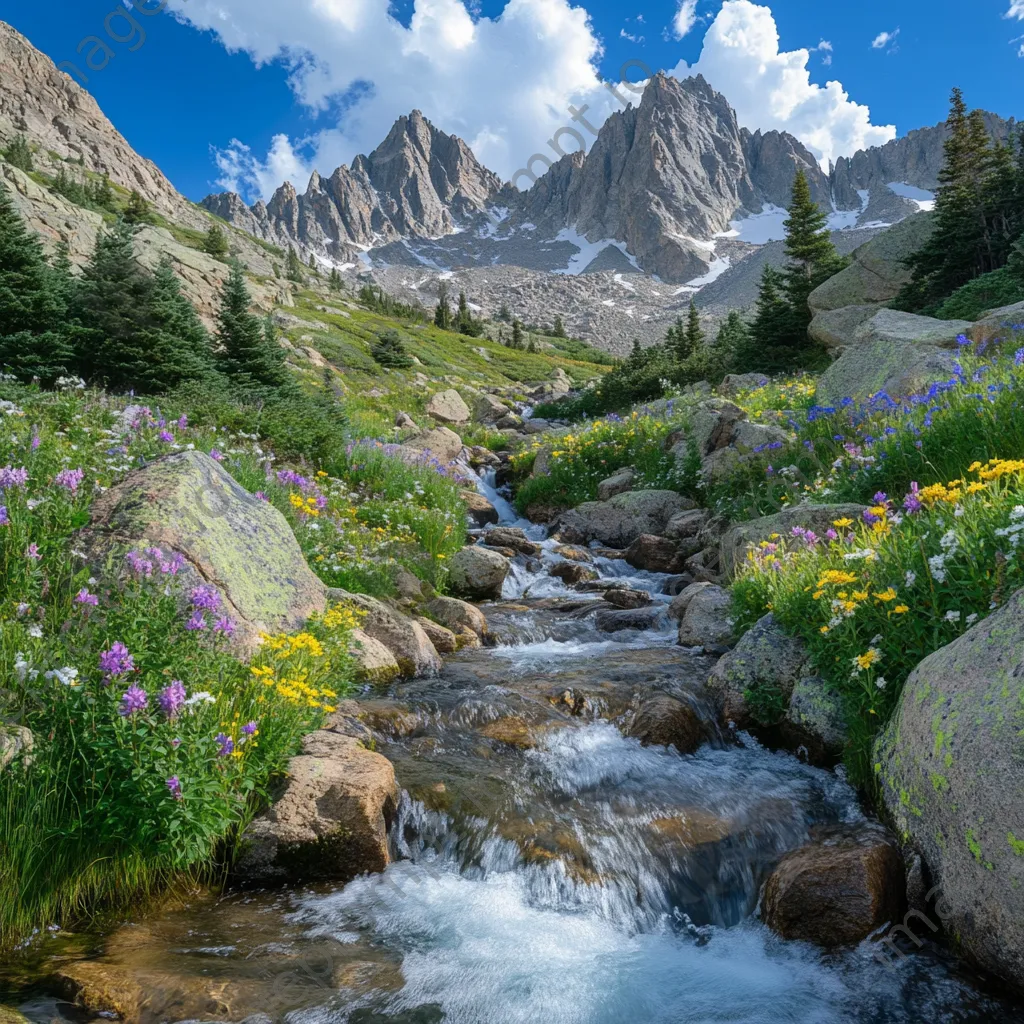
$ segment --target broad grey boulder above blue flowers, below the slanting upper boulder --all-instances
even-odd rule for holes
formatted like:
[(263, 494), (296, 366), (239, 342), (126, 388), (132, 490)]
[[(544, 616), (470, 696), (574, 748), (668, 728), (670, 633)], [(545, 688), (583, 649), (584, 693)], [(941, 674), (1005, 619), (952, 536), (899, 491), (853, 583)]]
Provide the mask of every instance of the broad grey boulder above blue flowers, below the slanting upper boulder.
[(884, 391), (903, 398), (953, 373), (956, 338), (969, 321), (938, 321), (881, 309), (853, 332), (843, 354), (818, 380), (818, 401), (838, 404)]

